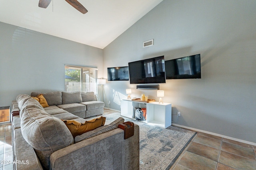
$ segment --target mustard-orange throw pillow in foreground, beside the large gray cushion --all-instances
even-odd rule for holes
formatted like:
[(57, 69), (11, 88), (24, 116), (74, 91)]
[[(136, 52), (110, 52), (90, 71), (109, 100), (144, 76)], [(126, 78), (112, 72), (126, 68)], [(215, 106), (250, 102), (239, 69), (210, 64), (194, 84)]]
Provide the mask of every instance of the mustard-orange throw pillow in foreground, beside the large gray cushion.
[(63, 120), (66, 124), (73, 137), (75, 138), (77, 135), (82, 135), (88, 131), (92, 131), (98, 127), (101, 127), (105, 124), (106, 117), (98, 117), (92, 120), (85, 121), (84, 123), (80, 123), (75, 120)]

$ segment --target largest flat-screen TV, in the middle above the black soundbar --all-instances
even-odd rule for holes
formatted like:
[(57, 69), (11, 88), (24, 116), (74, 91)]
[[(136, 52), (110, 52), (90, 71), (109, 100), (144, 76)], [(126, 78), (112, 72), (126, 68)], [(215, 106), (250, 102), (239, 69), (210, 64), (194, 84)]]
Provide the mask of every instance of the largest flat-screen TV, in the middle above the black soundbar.
[(164, 56), (128, 63), (130, 84), (165, 83)]

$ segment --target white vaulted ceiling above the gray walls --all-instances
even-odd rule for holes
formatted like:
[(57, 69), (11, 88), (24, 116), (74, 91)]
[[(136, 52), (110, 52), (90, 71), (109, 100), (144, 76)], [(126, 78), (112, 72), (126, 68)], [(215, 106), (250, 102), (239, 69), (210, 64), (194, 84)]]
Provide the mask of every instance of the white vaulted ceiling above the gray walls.
[(162, 0), (78, 0), (82, 14), (65, 0), (45, 8), (39, 0), (0, 0), (0, 21), (103, 49)]

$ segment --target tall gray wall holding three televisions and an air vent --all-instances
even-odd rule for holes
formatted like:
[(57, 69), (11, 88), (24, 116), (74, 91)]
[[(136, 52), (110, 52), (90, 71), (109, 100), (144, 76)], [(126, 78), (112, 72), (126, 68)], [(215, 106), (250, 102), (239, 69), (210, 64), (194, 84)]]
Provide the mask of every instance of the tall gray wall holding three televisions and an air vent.
[[(201, 54), (202, 79), (160, 84), (177, 124), (256, 143), (256, 1), (164, 0), (104, 48), (107, 67), (164, 55), (166, 60)], [(142, 48), (143, 41), (154, 45)], [(125, 89), (159, 100), (156, 90), (129, 81), (104, 86), (110, 108), (120, 110)], [(175, 115), (172, 115), (176, 121)]]

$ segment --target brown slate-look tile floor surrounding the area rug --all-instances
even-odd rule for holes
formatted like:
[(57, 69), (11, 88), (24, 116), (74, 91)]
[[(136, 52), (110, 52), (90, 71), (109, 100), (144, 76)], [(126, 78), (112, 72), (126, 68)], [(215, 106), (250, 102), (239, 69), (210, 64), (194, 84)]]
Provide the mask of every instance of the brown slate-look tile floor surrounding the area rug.
[[(114, 113), (104, 109), (104, 114)], [(0, 125), (0, 161), (12, 161), (11, 124)], [(170, 170), (256, 170), (256, 146), (199, 132)], [(13, 170), (2, 164), (0, 170)]]

